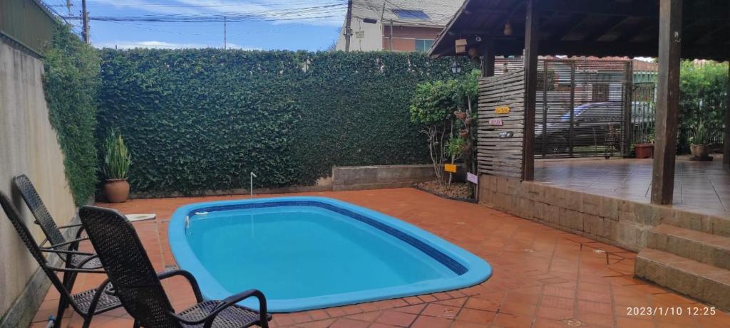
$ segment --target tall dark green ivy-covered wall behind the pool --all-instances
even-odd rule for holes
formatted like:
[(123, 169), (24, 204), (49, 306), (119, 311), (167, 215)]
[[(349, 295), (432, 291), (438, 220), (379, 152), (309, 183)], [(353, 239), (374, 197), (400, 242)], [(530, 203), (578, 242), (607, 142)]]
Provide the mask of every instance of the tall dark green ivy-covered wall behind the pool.
[[(333, 165), (428, 163), (408, 105), (451, 60), (393, 52), (104, 50), (98, 136), (137, 192), (314, 184)], [(474, 65), (464, 61), (462, 71)]]

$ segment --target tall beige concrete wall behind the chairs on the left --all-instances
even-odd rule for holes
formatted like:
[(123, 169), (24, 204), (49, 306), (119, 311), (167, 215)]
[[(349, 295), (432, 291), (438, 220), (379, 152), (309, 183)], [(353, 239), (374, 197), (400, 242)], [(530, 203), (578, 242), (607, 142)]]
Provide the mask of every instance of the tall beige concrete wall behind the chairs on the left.
[[(17, 192), (12, 192), (12, 176), (26, 173), (31, 178), (58, 224), (68, 223), (75, 213), (64, 173), (64, 155), (48, 121), (42, 74), (42, 60), (0, 36), (0, 190), (11, 195), (38, 241), (44, 238), (42, 231), (32, 223), (31, 214)], [(0, 313), (4, 316), (0, 322), (13, 327), (18, 324), (3, 321), (7, 321), (6, 314), (16, 300), (23, 302), (18, 308), (29, 312), (31, 317), (35, 311), (34, 300), (28, 303), (27, 297), (20, 296), (37, 265), (2, 211), (0, 261), (3, 263), (0, 266)], [(37, 289), (31, 292), (38, 293)]]

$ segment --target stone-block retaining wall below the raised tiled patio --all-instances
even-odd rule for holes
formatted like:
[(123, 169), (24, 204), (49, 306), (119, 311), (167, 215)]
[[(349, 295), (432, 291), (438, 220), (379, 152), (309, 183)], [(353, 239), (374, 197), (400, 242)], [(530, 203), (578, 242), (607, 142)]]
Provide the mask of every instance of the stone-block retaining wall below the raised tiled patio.
[(502, 176), (483, 174), (479, 184), (480, 204), (631, 251), (644, 249), (648, 230), (662, 222), (718, 235), (730, 234), (728, 219), (668, 206)]

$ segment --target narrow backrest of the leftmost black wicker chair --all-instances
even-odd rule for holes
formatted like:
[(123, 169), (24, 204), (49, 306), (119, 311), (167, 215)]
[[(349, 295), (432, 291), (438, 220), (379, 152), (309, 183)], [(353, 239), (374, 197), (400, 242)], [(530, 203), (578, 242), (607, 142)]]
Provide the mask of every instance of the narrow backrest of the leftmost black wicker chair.
[(23, 243), (26, 244), (26, 248), (28, 248), (28, 251), (31, 252), (31, 255), (33, 255), (34, 259), (36, 259), (36, 261), (38, 262), (38, 265), (40, 265), (41, 269), (45, 272), (46, 276), (48, 276), (51, 283), (53, 283), (55, 289), (58, 289), (61, 297), (66, 297), (66, 300), (69, 300), (72, 306), (78, 309), (76, 303), (71, 298), (71, 293), (69, 293), (69, 290), (66, 289), (66, 286), (64, 286), (61, 280), (58, 279), (55, 271), (48, 268), (48, 262), (45, 256), (43, 256), (41, 249), (33, 238), (33, 235), (31, 235), (30, 231), (28, 230), (28, 227), (25, 223), (23, 223), (23, 219), (20, 216), (18, 209), (16, 209), (15, 206), (12, 205), (9, 198), (7, 198), (7, 195), (5, 195), (4, 192), (0, 192), (0, 206), (2, 207), (3, 211), (5, 211), (7, 218), (10, 219), (10, 223), (12, 223), (12, 226), (15, 227), (15, 230), (18, 232), (20, 240), (22, 240)]

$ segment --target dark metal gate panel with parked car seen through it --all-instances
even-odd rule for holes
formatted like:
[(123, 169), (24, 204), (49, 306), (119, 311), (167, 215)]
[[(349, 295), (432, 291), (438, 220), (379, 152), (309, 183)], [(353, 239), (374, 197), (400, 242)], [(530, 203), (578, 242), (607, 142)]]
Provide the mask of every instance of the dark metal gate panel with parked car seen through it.
[(629, 152), (629, 60), (541, 60), (535, 157), (610, 157)]

